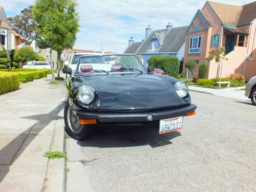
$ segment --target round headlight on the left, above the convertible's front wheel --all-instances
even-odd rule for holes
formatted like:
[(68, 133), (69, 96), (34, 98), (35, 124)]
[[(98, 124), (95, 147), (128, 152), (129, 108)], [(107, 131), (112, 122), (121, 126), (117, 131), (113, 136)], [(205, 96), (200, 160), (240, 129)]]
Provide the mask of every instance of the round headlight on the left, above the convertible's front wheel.
[(84, 104), (89, 104), (95, 97), (95, 91), (89, 86), (82, 86), (76, 94), (77, 100)]

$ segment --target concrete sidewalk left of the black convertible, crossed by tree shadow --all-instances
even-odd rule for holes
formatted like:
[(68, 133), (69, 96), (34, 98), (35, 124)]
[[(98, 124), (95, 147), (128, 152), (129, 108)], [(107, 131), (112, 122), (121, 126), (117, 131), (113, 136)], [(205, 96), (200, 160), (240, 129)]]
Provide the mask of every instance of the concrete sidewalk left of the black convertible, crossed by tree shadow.
[(0, 190), (62, 191), (65, 160), (43, 157), (63, 152), (63, 86), (49, 84), (51, 75), (20, 84), (0, 95)]

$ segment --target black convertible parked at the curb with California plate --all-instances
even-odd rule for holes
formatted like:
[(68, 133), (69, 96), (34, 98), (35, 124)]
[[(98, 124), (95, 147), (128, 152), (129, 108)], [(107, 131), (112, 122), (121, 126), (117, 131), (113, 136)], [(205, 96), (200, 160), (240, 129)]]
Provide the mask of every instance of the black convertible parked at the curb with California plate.
[(91, 137), (95, 125), (159, 124), (159, 134), (181, 129), (184, 116), (194, 115), (184, 82), (143, 67), (136, 55), (80, 56), (76, 70), (64, 68), (66, 132), (76, 140)]

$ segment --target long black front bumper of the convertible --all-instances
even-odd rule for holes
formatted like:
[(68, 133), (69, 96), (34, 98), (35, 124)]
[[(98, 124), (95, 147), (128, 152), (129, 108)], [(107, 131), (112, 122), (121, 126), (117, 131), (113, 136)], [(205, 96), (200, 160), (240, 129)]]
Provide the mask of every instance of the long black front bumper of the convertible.
[[(195, 104), (189, 104), (180, 108), (153, 112), (103, 113), (78, 110), (75, 113), (79, 118), (97, 119), (98, 122), (144, 122), (185, 116), (188, 112), (195, 111), (196, 109), (197, 106)], [(148, 115), (152, 115), (153, 119), (148, 120)]]

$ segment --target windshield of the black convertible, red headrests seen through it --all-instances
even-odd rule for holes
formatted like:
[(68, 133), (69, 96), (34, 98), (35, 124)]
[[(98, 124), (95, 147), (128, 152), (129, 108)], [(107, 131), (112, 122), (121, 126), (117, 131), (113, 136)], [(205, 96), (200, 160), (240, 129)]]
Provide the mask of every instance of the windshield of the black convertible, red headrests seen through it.
[(91, 55), (80, 56), (77, 74), (97, 73), (143, 73), (146, 72), (135, 55)]

